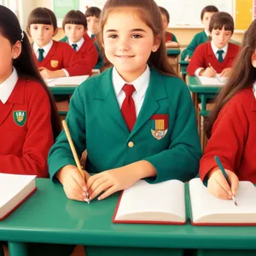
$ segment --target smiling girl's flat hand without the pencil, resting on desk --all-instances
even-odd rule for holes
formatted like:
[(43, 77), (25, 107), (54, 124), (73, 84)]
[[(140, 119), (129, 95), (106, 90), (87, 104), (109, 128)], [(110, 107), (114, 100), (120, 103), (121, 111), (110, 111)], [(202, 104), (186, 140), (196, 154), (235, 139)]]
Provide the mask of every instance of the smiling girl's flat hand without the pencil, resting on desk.
[(136, 183), (140, 177), (136, 169), (131, 165), (122, 166), (91, 176), (87, 181), (87, 189), (90, 193), (90, 200), (105, 191), (98, 200), (105, 199), (114, 192), (127, 189)]

